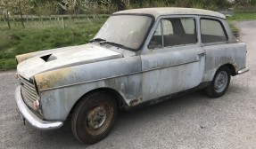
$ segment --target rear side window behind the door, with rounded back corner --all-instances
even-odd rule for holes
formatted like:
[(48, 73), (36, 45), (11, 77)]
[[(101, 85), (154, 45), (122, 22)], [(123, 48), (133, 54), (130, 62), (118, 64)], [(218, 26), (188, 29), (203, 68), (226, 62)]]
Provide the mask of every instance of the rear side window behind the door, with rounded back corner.
[(227, 35), (218, 20), (201, 19), (202, 43), (227, 41)]

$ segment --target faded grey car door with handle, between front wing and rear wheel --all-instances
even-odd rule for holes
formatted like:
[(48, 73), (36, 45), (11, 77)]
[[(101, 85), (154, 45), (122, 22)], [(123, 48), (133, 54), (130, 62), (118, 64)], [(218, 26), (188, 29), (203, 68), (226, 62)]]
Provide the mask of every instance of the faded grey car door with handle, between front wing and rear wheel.
[(198, 53), (202, 52), (202, 48), (165, 48), (142, 55), (144, 100), (199, 85), (205, 57)]

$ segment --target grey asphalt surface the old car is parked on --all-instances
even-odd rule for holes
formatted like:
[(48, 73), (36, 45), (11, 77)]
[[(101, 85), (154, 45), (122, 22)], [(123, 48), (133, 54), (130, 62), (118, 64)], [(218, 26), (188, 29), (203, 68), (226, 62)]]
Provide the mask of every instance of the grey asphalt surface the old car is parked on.
[(250, 72), (232, 78), (221, 98), (198, 91), (133, 112), (122, 112), (109, 137), (81, 145), (70, 130), (23, 125), (16, 112), (14, 72), (0, 73), (0, 148), (256, 148), (256, 21), (236, 24), (247, 43)]

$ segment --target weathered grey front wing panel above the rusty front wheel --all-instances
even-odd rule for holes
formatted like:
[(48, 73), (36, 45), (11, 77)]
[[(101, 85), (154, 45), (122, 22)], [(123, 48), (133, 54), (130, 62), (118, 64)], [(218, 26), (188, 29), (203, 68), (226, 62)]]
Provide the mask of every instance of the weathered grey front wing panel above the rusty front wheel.
[(141, 80), (141, 60), (138, 56), (35, 75), (47, 120), (64, 120), (70, 112), (70, 107), (74, 106), (79, 98), (91, 90), (100, 88), (116, 90), (130, 105), (131, 100), (141, 97)]

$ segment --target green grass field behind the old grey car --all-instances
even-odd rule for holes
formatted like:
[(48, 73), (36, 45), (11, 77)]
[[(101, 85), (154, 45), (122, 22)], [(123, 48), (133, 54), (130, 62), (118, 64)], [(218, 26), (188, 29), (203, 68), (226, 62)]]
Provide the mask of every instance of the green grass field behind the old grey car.
[[(64, 19), (63, 19), (64, 18)], [(11, 21), (12, 29), (0, 21), (0, 69), (13, 69), (16, 67), (15, 56), (32, 51), (63, 46), (88, 43), (98, 29), (103, 25), (107, 16), (81, 17), (71, 20), (69, 17), (53, 17), (44, 20), (25, 20), (25, 27), (21, 23)], [(227, 18), (234, 32), (238, 29), (232, 25), (236, 20), (256, 20), (256, 13), (236, 13), (234, 17)]]

